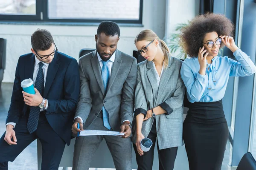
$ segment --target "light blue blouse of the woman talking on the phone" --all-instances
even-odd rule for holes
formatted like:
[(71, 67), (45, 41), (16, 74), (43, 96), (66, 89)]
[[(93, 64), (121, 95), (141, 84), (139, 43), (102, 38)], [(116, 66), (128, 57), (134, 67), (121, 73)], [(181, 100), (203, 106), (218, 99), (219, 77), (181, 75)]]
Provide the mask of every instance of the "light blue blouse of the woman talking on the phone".
[(234, 56), (238, 61), (225, 57), (214, 57), (207, 63), (206, 74), (199, 74), (198, 57), (184, 60), (180, 75), (187, 90), (189, 102), (215, 102), (224, 97), (230, 76), (249, 76), (256, 72), (256, 66), (240, 49)]

